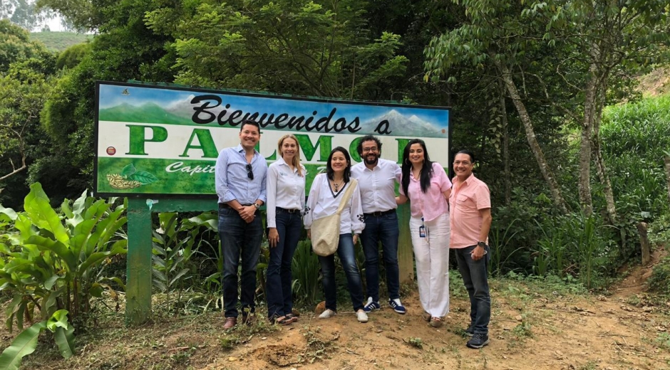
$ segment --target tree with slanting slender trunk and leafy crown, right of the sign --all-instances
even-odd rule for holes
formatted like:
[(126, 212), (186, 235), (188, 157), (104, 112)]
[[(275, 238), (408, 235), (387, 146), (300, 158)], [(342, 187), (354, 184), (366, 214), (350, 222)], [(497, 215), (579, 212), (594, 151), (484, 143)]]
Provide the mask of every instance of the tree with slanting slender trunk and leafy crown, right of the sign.
[[(535, 35), (541, 26), (540, 21), (525, 18), (524, 6), (516, 1), (453, 1), (463, 4), (468, 23), (433, 38), (426, 48), (426, 80), (438, 81), (450, 68), (460, 65), (472, 65), (480, 70), (485, 68), (485, 63), (495, 66), (498, 78), (517, 110), (528, 145), (552, 199), (560, 211), (567, 213), (560, 185), (537, 140), (532, 118), (512, 73), (513, 70), (520, 70), (523, 75), (527, 68), (535, 68), (526, 63), (528, 54), (545, 57), (544, 46)], [(451, 77), (448, 80), (455, 79)]]

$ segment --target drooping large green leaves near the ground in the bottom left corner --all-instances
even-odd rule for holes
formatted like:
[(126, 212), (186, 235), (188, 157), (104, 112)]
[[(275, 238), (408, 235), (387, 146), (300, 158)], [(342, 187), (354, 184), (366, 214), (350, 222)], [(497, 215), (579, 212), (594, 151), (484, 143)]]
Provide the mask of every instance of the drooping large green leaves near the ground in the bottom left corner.
[(58, 351), (63, 358), (68, 359), (74, 354), (74, 327), (68, 322), (68, 312), (58, 310), (53, 312), (48, 320), (36, 322), (16, 336), (9, 347), (0, 354), (0, 369), (18, 370), (21, 359), (35, 351), (39, 334), (44, 329), (53, 333)]

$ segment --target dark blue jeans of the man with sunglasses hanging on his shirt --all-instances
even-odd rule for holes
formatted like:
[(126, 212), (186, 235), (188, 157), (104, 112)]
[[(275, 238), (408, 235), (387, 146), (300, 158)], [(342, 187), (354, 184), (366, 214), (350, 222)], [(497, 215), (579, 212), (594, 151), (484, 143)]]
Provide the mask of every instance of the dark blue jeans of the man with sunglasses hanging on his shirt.
[(256, 265), (261, 250), (263, 223), (260, 212), (247, 223), (232, 208), (219, 205), (219, 238), (223, 255), (223, 307), (225, 317), (237, 317), (237, 266), (242, 257), (242, 310), (254, 312)]

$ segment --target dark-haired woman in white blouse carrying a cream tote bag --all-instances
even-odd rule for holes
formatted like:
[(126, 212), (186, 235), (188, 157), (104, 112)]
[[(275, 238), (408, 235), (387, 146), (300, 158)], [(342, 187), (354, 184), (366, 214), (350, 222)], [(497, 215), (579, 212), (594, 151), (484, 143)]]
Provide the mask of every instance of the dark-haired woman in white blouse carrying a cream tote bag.
[[(305, 208), (304, 223), (312, 240), (312, 248), (319, 255), (324, 276), (326, 310), (319, 319), (328, 319), (337, 312), (335, 287), (335, 255), (339, 255), (347, 287), (359, 322), (367, 322), (363, 310), (363, 287), (356, 266), (354, 244), (365, 228), (361, 192), (351, 173), (351, 157), (343, 147), (336, 147), (328, 157), (326, 174), (314, 177)], [(339, 218), (339, 222), (338, 221)], [(339, 228), (339, 232), (338, 229)], [(331, 254), (329, 254), (331, 253)]]

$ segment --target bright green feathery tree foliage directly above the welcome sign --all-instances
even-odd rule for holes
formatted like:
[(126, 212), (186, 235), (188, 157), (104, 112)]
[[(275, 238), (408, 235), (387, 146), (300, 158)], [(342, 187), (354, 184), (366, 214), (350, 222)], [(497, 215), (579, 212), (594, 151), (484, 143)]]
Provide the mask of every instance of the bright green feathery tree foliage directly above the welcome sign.
[(175, 39), (176, 82), (371, 98), (401, 77), (400, 36), (366, 32), (361, 1), (230, 1), (163, 7), (148, 27)]

